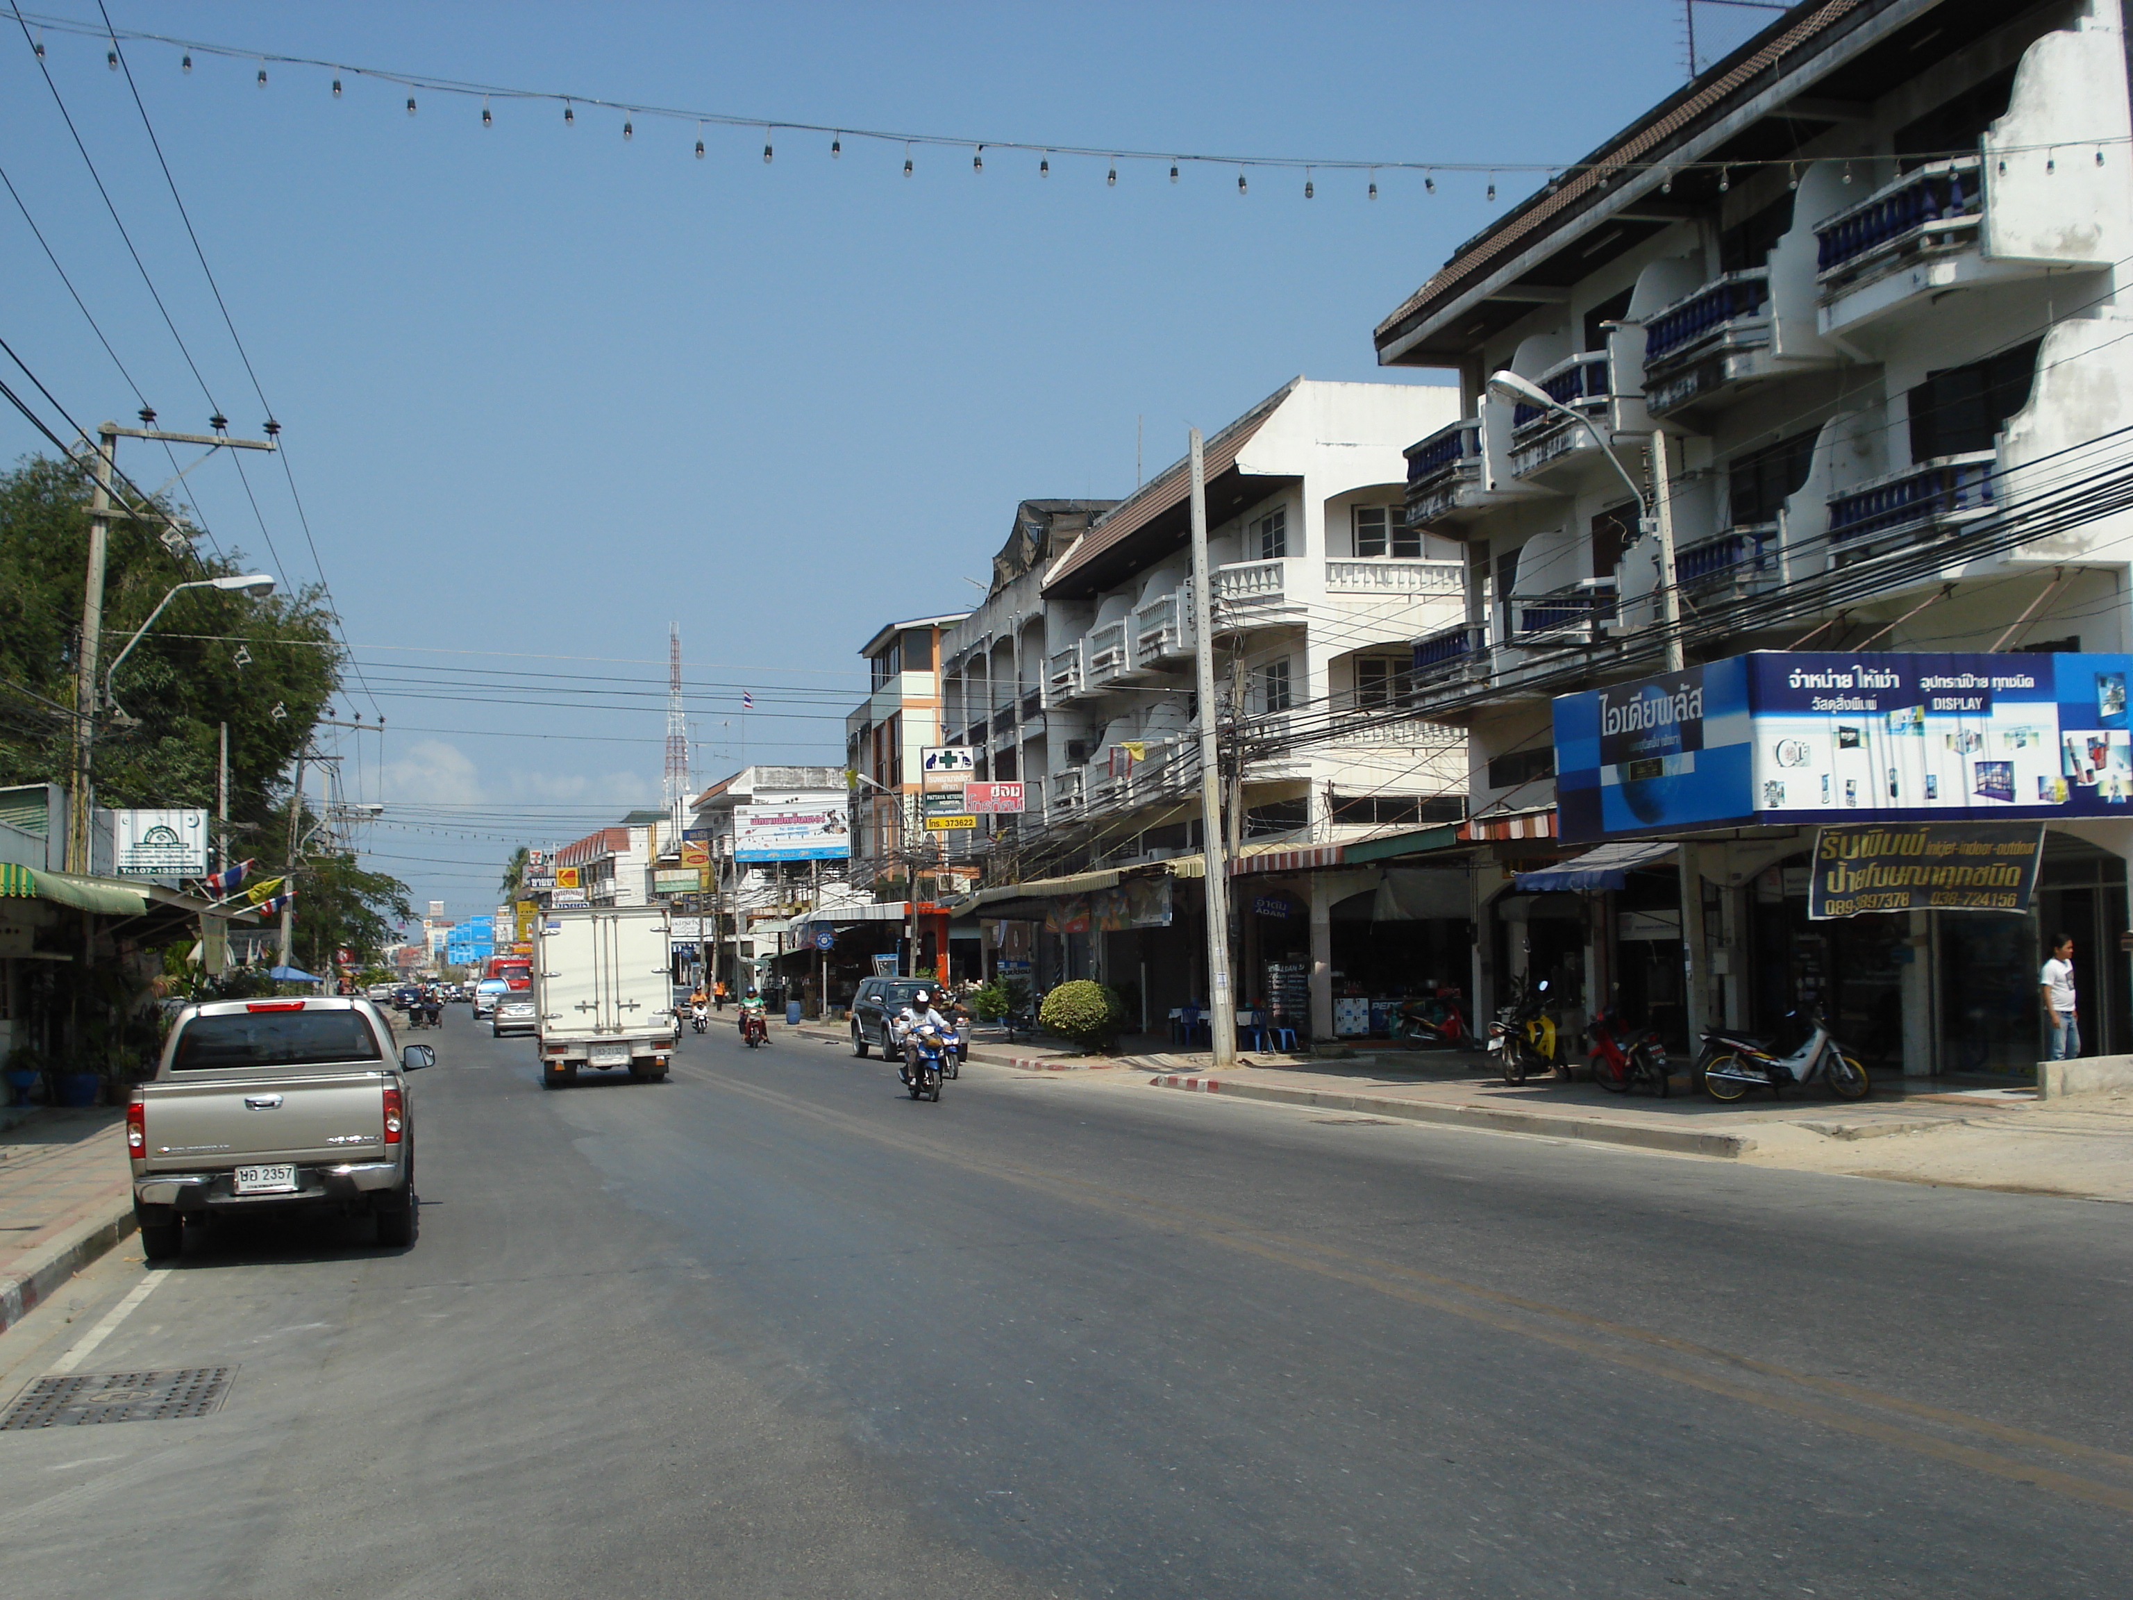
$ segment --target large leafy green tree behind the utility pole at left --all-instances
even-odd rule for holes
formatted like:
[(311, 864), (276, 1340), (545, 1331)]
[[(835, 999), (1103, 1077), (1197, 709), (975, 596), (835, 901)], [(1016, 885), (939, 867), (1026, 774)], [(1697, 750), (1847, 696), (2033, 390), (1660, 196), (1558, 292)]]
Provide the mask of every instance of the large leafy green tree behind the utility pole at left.
[[(169, 506), (164, 510), (171, 510)], [(0, 474), (0, 783), (73, 783), (73, 708), (90, 491), (77, 463), (23, 459)], [(111, 525), (105, 580), (109, 661), (179, 582), (243, 572), (237, 557), (173, 557), (156, 525)], [(218, 723), (230, 727), (237, 845), (258, 838), (284, 772), (339, 687), (341, 653), (318, 587), (254, 599), (188, 589), (119, 668), (130, 721), (96, 730), (96, 798), (107, 806), (213, 806)]]

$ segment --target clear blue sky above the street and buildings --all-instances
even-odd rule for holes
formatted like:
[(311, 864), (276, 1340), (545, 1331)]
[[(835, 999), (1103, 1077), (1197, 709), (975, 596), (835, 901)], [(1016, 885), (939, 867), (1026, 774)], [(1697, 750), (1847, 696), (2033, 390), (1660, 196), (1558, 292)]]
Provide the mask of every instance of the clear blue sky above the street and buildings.
[[(96, 17), (94, 0), (47, 0)], [(1700, 4), (1704, 62), (1770, 13)], [(1453, 4), (205, 4), (119, 28), (747, 117), (1120, 149), (1561, 162), (1685, 77), (1679, 0)], [(0, 21), (0, 162), (164, 427), (209, 414)], [(105, 45), (51, 75), (207, 386), (258, 401)], [(657, 802), (668, 621), (697, 781), (838, 762), (855, 646), (977, 597), (1017, 499), (1120, 495), (1295, 373), (1384, 378), (1372, 326), (1531, 175), (1365, 177), (968, 154), (480, 100), (128, 43), (237, 331), (290, 446), (388, 734), (343, 742), (384, 798), (378, 866), (454, 913), (512, 843)], [(83, 422), (137, 407), (0, 194), (0, 333)], [(1401, 373), (1401, 382), (1427, 382)], [(0, 418), (0, 452), (38, 448)], [(171, 467), (126, 446), (143, 482)], [(318, 576), (286, 480), (194, 474), (224, 548)], [(271, 563), (271, 561), (269, 561)], [(546, 659), (512, 659), (512, 657)], [(555, 657), (608, 657), (610, 663)], [(619, 663), (616, 663), (619, 661)], [(578, 706), (484, 704), (506, 683)], [(591, 683), (612, 674), (651, 683)], [(518, 683), (518, 681), (512, 681)], [(742, 725), (738, 693), (757, 710)], [(584, 693), (591, 691), (591, 693)], [(804, 691), (804, 693), (802, 693)], [(429, 698), (414, 698), (429, 695)], [(819, 700), (819, 704), (800, 704)], [(360, 757), (358, 757), (360, 753)], [(420, 809), (429, 806), (429, 809)], [(444, 811), (444, 806), (454, 806)]]

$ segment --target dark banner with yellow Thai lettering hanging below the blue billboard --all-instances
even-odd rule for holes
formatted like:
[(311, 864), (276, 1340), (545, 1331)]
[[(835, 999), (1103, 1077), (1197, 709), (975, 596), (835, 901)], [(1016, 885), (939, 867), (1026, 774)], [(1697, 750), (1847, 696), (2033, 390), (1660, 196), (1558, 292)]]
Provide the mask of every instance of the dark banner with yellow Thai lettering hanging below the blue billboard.
[(2028, 911), (2041, 823), (1871, 823), (1817, 828), (1807, 915), (1871, 911)]

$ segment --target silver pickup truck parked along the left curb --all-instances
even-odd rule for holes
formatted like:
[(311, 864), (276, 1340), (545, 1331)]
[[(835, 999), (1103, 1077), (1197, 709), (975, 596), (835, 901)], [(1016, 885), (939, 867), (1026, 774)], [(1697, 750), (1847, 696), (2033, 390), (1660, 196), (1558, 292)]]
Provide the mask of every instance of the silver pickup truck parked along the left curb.
[(134, 1216), (149, 1261), (209, 1212), (307, 1205), (378, 1218), (414, 1244), (414, 1101), (392, 1024), (360, 998), (209, 1001), (179, 1011), (156, 1077), (126, 1105)]

